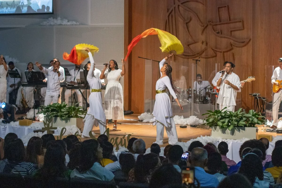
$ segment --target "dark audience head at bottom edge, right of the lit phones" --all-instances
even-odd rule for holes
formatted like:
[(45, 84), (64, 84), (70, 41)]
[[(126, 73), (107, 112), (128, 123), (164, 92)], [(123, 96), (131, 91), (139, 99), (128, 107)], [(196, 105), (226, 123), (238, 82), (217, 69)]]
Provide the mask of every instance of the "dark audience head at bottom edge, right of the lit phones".
[(250, 181), (242, 174), (232, 174), (224, 178), (217, 188), (252, 188)]

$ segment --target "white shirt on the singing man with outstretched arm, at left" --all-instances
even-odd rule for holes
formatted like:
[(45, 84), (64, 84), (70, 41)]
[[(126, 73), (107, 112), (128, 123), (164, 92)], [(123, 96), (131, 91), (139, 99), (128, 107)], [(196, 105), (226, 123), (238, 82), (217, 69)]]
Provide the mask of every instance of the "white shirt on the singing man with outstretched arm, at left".
[(59, 68), (59, 72), (61, 74), (60, 77), (58, 76), (57, 72), (53, 72), (53, 69), (49, 69), (49, 68), (47, 69), (43, 67), (41, 72), (45, 73), (48, 79), (46, 95), (50, 95), (50, 96), (59, 95), (60, 94), (60, 81), (64, 80), (63, 72), (60, 71), (60, 68)]

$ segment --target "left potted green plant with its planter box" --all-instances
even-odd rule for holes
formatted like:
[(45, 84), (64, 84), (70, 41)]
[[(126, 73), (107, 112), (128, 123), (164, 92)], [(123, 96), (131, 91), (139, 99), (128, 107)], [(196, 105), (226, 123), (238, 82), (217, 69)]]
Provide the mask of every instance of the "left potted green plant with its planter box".
[(65, 102), (40, 106), (38, 113), (45, 115), (45, 121), (53, 121), (54, 127), (76, 125), (79, 129), (83, 128), (82, 121), (86, 115), (86, 111), (81, 106), (67, 105)]

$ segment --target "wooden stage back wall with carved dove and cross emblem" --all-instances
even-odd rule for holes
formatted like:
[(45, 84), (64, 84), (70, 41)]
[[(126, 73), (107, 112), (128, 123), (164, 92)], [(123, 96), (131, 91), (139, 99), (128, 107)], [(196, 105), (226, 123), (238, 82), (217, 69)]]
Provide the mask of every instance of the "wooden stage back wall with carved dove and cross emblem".
[[(154, 27), (169, 31), (182, 42), (184, 55), (172, 59), (174, 80), (184, 78), (187, 88), (192, 87), (191, 67), (195, 62), (192, 59), (199, 56), (201, 62), (198, 64), (198, 73), (209, 81), (215, 75), (216, 63), (222, 68), (224, 61), (232, 61), (236, 65), (234, 72), (241, 80), (248, 76), (256, 78), (246, 83), (237, 96), (242, 107), (253, 109), (253, 98), (249, 96), (252, 92), (261, 93), (270, 99), (270, 88), (265, 86), (266, 82), (270, 83), (270, 78), (266, 78), (265, 67), (277, 65), (278, 58), (282, 57), (282, 19), (278, 16), (279, 10), (282, 10), (282, 1), (126, 1), (130, 2), (132, 10), (128, 18), (125, 17), (125, 25), (131, 24), (128, 36), (133, 38)], [(128, 36), (125, 38), (130, 38)], [(125, 41), (125, 47), (127, 42), (130, 40)], [(138, 56), (161, 60), (167, 54), (163, 54), (159, 46), (156, 36), (148, 36), (132, 50), (128, 62), (131, 65), (128, 105), (134, 112), (144, 112), (144, 60)], [(156, 64), (153, 66), (153, 72), (156, 72), (153, 75), (153, 90), (158, 79), (157, 71)]]

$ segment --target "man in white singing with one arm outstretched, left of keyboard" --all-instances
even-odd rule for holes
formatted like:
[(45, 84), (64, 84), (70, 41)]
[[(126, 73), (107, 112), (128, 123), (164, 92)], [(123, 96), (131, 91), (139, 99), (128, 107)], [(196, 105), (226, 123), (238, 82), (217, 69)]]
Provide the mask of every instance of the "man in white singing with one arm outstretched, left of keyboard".
[(41, 64), (35, 62), (39, 70), (47, 75), (47, 89), (45, 95), (44, 105), (47, 106), (53, 103), (58, 103), (60, 98), (60, 81), (64, 79), (63, 72), (59, 71), (60, 62), (55, 61), (53, 69), (42, 67)]

